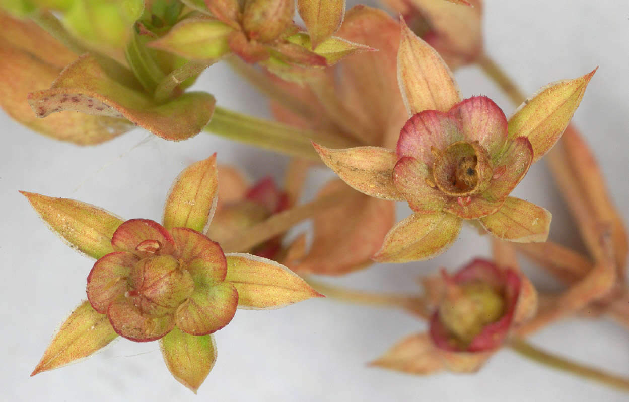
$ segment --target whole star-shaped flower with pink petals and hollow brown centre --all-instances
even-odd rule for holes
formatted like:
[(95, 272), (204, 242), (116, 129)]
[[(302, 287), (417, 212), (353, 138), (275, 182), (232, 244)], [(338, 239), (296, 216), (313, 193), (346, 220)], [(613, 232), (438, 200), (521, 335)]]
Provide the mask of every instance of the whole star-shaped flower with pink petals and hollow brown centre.
[(411, 117), (396, 150), (315, 144), (323, 162), (353, 188), (408, 201), (413, 209), (372, 259), (407, 262), (440, 254), (464, 219), (503, 240), (545, 241), (550, 213), (509, 194), (559, 140), (594, 71), (543, 87), (507, 120), (489, 98), (461, 100), (438, 53), (404, 25), (398, 77)]

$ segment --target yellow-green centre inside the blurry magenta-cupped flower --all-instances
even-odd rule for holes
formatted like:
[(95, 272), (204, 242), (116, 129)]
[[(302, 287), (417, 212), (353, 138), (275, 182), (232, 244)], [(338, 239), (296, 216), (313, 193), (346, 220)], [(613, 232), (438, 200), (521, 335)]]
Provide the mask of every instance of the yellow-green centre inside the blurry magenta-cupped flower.
[(504, 313), (504, 298), (485, 282), (451, 284), (439, 306), (439, 318), (457, 343), (467, 347), (483, 328)]

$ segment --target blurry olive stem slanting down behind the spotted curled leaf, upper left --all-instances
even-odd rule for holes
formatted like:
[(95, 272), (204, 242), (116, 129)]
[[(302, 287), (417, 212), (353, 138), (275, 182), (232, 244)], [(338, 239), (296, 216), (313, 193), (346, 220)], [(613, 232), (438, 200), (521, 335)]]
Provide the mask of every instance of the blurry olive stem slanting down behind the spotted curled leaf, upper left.
[(50, 11), (38, 11), (31, 16), (31, 20), (39, 25), (40, 28), (50, 33), (50, 35), (59, 42), (63, 43), (65, 47), (70, 49), (70, 52), (76, 53), (77, 55), (91, 53), (94, 59), (96, 59), (96, 62), (103, 67), (103, 70), (118, 82), (121, 82), (121, 84), (134, 89), (142, 87), (131, 70), (116, 60), (111, 59), (111, 57), (85, 47), (65, 29), (62, 23), (57, 17), (50, 13)]

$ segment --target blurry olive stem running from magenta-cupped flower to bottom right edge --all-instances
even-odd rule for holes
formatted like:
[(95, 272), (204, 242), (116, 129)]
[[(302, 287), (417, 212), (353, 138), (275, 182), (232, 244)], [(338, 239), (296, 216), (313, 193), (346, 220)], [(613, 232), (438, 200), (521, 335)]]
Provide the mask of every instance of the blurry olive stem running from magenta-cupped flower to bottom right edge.
[(563, 357), (545, 352), (544, 350), (537, 349), (530, 343), (521, 339), (511, 340), (511, 342), (509, 342), (509, 347), (527, 359), (544, 364), (545, 366), (553, 367), (560, 371), (569, 372), (570, 374), (598, 381), (601, 384), (629, 392), (629, 379), (625, 379), (599, 369), (594, 369), (592, 367), (582, 366), (581, 364), (571, 360), (567, 360)]

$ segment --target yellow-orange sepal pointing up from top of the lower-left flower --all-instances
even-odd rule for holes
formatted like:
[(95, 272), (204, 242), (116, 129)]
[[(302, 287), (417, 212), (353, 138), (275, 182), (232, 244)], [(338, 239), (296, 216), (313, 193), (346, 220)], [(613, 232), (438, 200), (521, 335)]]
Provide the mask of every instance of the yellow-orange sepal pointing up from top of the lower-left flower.
[(170, 187), (164, 207), (164, 227), (205, 232), (218, 199), (216, 153), (184, 169)]

